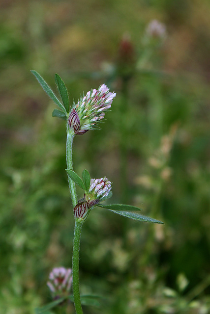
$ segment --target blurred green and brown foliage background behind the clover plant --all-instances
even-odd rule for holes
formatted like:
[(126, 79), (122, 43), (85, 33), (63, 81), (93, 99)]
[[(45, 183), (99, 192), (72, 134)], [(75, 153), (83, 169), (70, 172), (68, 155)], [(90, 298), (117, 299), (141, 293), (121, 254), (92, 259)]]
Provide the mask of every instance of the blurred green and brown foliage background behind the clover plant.
[(65, 125), (30, 69), (54, 90), (59, 73), (71, 102), (117, 92), (102, 130), (75, 138), (74, 169), (165, 223), (91, 212), (81, 291), (106, 299), (84, 312), (210, 313), (209, 0), (1, 0), (0, 17), (0, 313), (34, 313), (52, 268), (71, 266)]

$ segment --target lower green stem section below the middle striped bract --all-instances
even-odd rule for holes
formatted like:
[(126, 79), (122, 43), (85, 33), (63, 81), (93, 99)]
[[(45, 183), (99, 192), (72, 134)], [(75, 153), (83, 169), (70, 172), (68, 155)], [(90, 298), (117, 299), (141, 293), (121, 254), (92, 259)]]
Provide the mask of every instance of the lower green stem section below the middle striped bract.
[(77, 314), (83, 314), (81, 301), (80, 301), (80, 284), (79, 284), (79, 255), (80, 255), (81, 230), (82, 230), (82, 223), (78, 222), (75, 219), (72, 275), (73, 275), (74, 306), (75, 306), (75, 310)]

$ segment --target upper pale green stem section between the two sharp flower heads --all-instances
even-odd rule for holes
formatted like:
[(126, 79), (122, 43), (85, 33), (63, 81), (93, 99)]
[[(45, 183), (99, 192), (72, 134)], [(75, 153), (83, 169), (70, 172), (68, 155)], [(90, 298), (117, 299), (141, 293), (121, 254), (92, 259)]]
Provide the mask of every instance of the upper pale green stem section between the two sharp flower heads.
[[(73, 171), (73, 158), (72, 158), (72, 143), (73, 143), (73, 138), (74, 138), (74, 133), (69, 129), (68, 127), (66, 128), (67, 131), (67, 139), (66, 139), (66, 165), (67, 169), (70, 169)], [(68, 176), (68, 185), (69, 185), (69, 190), (71, 193), (71, 198), (72, 198), (72, 204), (73, 207), (77, 205), (77, 192), (76, 192), (76, 187), (75, 183), (69, 178)]]

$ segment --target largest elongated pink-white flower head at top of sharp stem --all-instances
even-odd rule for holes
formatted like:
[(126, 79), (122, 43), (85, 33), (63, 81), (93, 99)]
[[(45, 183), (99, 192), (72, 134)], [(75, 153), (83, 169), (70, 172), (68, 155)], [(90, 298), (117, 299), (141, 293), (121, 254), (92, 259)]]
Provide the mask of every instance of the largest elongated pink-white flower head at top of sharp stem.
[(104, 118), (105, 112), (111, 108), (116, 93), (111, 93), (103, 84), (98, 90), (90, 90), (86, 96), (81, 97), (77, 104), (73, 104), (68, 118), (69, 127), (75, 134), (84, 134), (94, 130)]

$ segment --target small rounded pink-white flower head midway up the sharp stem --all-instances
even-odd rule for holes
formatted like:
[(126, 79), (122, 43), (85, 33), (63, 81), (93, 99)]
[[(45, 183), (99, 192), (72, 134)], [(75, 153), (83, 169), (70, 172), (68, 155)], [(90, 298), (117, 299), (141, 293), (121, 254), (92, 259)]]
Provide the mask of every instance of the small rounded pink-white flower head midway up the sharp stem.
[(94, 200), (101, 201), (103, 198), (108, 196), (111, 188), (111, 182), (106, 177), (100, 179), (91, 179), (90, 188), (88, 193), (85, 195), (85, 199), (89, 203)]

